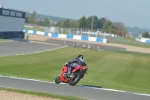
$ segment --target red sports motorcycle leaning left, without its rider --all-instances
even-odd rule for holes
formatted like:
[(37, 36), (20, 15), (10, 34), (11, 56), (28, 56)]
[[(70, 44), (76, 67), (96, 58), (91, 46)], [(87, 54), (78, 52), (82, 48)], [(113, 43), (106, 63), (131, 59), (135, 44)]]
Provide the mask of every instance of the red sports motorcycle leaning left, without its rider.
[(68, 65), (64, 65), (60, 74), (55, 78), (55, 83), (68, 83), (69, 85), (76, 85), (81, 78), (84, 77), (85, 73), (87, 74), (87, 66), (77, 66), (72, 68), (70, 76), (67, 76)]

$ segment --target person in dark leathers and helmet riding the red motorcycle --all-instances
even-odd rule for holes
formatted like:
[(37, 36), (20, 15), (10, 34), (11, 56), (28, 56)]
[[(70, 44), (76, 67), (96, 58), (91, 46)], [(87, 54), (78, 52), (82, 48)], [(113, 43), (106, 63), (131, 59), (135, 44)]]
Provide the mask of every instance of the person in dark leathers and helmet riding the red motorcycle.
[(71, 70), (73, 68), (76, 68), (78, 66), (86, 66), (86, 61), (83, 60), (83, 55), (78, 55), (77, 58), (74, 58), (72, 60), (69, 60), (68, 63), (66, 63), (66, 65), (68, 66), (68, 72), (67, 75), (70, 76), (71, 74)]

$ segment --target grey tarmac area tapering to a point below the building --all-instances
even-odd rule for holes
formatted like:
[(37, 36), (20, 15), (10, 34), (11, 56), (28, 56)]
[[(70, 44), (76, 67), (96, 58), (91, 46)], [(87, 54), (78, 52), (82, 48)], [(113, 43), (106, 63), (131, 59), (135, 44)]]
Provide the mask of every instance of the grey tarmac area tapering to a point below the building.
[(35, 43), (14, 40), (4, 41), (0, 42), (0, 56), (30, 54), (61, 47), (64, 46), (58, 44)]

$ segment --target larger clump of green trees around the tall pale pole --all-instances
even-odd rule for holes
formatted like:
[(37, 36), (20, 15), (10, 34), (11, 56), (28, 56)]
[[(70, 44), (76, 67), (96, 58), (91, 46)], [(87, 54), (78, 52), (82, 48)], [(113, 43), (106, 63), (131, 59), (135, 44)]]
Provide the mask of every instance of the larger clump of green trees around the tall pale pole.
[(105, 33), (112, 33), (122, 37), (126, 36), (125, 25), (121, 22), (111, 22), (107, 18), (98, 18), (97, 16), (90, 16), (86, 18), (81, 17), (77, 21), (70, 21), (66, 19), (65, 21), (59, 21), (56, 24), (57, 27), (65, 28), (79, 28), (82, 30), (88, 29), (90, 31), (99, 30)]

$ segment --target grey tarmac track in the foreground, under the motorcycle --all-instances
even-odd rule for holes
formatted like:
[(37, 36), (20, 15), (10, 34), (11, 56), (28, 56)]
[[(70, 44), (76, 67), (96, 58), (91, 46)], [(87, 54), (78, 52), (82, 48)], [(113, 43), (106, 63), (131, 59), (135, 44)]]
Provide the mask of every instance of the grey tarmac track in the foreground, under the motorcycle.
[(150, 100), (150, 96), (144, 94), (4, 76), (0, 76), (0, 87), (74, 96), (88, 100)]

